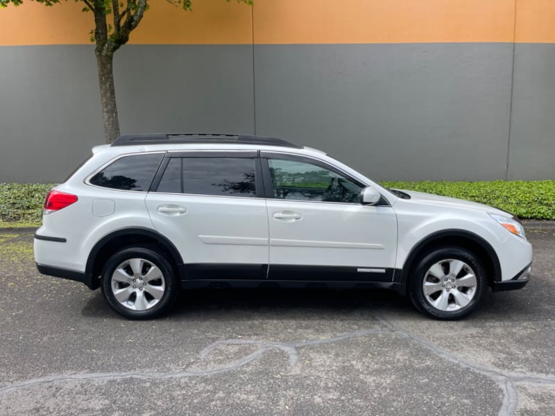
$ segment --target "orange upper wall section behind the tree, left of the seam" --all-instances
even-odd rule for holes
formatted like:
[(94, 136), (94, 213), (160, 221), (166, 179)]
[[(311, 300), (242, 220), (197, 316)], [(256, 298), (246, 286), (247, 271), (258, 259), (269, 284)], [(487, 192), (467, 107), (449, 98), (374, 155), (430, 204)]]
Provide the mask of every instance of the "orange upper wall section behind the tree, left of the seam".
[[(250, 44), (249, 6), (235, 1), (197, 0), (186, 12), (166, 0), (153, 0), (130, 44)], [(82, 3), (62, 2), (52, 7), (27, 1), (0, 9), (0, 45), (90, 44), (92, 12)]]

